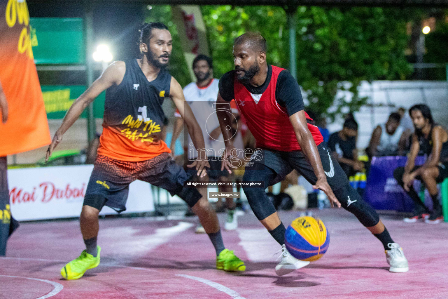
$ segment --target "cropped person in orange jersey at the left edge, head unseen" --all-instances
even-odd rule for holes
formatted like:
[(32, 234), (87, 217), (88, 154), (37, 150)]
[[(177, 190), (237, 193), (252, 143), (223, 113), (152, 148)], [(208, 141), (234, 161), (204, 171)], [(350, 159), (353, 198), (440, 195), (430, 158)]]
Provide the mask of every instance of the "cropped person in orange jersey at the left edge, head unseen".
[(30, 43), (26, 1), (0, 1), (0, 256), (18, 222), (11, 216), (6, 156), (50, 144)]

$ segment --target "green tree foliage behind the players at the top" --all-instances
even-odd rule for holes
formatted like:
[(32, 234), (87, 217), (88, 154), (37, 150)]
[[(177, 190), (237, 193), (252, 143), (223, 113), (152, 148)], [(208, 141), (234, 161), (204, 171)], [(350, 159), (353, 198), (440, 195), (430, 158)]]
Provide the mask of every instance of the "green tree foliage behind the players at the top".
[[(163, 9), (155, 11), (154, 6), (147, 19), (170, 20), (169, 8), (160, 7)], [(267, 39), (268, 63), (289, 67), (289, 31), (281, 7), (223, 5), (201, 9), (215, 77), (234, 68), (233, 40), (247, 31), (259, 32)], [(341, 109), (357, 111), (366, 100), (358, 97), (357, 87), (362, 80), (405, 79), (410, 74), (404, 54), (408, 36), (402, 9), (302, 6), (296, 14), (297, 81), (308, 94), (308, 109), (318, 115), (334, 116)], [(168, 26), (171, 29), (172, 22), (168, 21)], [(178, 43), (176, 34), (174, 42)], [(173, 49), (172, 66), (176, 65), (173, 69), (177, 71), (173, 75), (185, 85), (181, 77), (189, 81), (188, 72), (179, 67), (177, 51), (181, 52), (180, 46)], [(347, 89), (354, 96), (338, 100), (338, 110), (328, 113), (338, 89)]]

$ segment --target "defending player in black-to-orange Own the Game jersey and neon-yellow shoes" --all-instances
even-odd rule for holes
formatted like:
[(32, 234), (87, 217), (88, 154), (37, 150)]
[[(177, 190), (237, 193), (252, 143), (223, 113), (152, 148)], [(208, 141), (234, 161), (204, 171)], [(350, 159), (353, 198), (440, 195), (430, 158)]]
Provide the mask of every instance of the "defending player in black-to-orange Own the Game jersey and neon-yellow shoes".
[[(126, 209), (129, 184), (136, 179), (178, 195), (198, 215), (216, 251), (216, 268), (244, 271), (244, 263), (224, 247), (220, 225), (208, 200), (195, 188), (185, 187), (191, 178), (171, 159), (170, 149), (160, 139), (165, 114), (164, 98), (170, 98), (185, 121), (194, 146), (204, 149), (198, 122), (185, 103), (181, 85), (165, 67), (172, 51), (171, 34), (163, 23), (145, 24), (140, 30), (140, 59), (115, 61), (70, 107), (47, 150), (47, 159), (62, 141), (62, 135), (102, 91), (106, 90), (103, 134), (82, 206), (80, 226), (86, 250), (60, 271), (66, 279), (78, 279), (99, 264), (98, 214), (103, 206)], [(198, 155), (202, 157), (204, 155)], [(207, 160), (189, 165), (205, 176)]]

